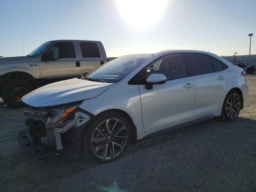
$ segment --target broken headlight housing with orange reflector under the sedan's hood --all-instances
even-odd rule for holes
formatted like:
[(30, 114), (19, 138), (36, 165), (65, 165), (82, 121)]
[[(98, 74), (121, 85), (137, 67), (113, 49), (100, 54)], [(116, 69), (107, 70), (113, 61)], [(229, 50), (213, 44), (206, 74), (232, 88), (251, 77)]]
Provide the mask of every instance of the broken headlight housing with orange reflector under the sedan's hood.
[(29, 110), (25, 111), (24, 115), (27, 118), (33, 118), (35, 120), (43, 119), (47, 126), (54, 125), (55, 127), (61, 127), (74, 119), (74, 114), (81, 103), (82, 102), (76, 102), (73, 104), (44, 108), (29, 107)]

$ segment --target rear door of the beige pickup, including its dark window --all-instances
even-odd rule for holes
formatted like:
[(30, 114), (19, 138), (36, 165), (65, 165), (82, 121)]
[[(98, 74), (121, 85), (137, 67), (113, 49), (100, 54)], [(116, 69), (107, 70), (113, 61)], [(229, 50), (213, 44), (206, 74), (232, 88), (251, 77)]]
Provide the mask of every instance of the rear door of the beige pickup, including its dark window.
[(100, 42), (77, 41), (82, 74), (90, 72), (106, 62)]

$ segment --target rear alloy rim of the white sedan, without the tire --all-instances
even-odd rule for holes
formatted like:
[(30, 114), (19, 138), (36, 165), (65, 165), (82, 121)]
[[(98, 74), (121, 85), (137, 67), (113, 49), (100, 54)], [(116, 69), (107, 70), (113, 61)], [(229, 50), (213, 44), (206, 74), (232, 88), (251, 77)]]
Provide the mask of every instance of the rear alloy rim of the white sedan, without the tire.
[(234, 119), (238, 116), (240, 112), (240, 97), (238, 94), (233, 93), (228, 97), (226, 103), (226, 113), (230, 119)]

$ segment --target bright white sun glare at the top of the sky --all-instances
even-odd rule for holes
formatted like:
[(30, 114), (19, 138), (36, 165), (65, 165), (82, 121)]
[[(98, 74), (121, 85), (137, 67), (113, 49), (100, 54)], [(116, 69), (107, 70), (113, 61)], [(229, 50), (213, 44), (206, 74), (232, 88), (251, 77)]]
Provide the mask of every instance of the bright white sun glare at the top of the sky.
[(126, 22), (143, 29), (154, 25), (163, 15), (168, 0), (116, 0), (116, 6)]

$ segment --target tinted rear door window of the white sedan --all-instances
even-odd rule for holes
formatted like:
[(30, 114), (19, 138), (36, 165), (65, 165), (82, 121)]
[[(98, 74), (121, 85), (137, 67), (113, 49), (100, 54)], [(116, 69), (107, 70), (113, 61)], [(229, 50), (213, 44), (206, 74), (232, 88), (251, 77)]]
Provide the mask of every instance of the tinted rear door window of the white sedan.
[(210, 56), (197, 53), (188, 53), (187, 55), (195, 76), (214, 72)]

